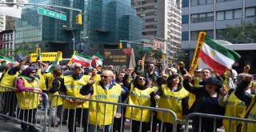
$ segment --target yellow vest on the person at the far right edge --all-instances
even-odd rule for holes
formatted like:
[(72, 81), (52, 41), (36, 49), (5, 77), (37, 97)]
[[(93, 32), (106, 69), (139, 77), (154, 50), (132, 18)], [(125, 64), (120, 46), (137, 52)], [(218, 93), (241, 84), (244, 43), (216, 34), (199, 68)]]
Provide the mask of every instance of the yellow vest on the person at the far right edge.
[[(253, 99), (250, 102), (250, 105), (248, 106), (246, 113), (249, 113), (247, 119), (256, 120), (256, 97), (255, 97), (255, 95), (253, 95)], [(242, 131), (246, 131), (245, 127), (247, 128), (247, 131), (254, 131), (256, 128), (256, 123), (242, 122)]]

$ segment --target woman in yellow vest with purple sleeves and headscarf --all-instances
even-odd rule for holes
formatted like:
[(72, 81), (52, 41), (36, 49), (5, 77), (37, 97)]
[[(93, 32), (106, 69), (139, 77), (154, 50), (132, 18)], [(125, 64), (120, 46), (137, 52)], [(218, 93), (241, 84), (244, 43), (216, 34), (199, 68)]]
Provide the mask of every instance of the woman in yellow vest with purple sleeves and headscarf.
[[(17, 79), (17, 99), (18, 99), (18, 114), (19, 119), (25, 122), (35, 123), (37, 107), (40, 103), (39, 96), (33, 92), (42, 92), (39, 88), (38, 78), (34, 76), (36, 74), (34, 67), (28, 67), (22, 71), (19, 78)], [(38, 132), (34, 126), (27, 125), (21, 122), (22, 131)]]

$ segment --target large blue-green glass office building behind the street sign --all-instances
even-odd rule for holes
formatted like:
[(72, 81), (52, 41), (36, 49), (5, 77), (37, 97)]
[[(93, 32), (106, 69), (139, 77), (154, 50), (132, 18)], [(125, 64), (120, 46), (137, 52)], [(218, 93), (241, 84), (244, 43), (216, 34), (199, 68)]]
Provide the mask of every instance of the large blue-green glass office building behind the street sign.
[[(66, 21), (38, 14), (38, 6), (25, 6), (15, 28), (16, 46), (30, 42), (46, 51), (62, 51), (70, 58), (73, 50), (95, 54), (118, 48), (120, 40), (140, 42), (142, 20), (127, 0), (33, 0), (30, 3), (66, 6), (82, 10), (82, 25), (76, 25), (75, 10), (42, 7), (66, 14)], [(66, 26), (66, 27), (63, 27)], [(74, 36), (73, 33), (74, 32)], [(75, 38), (73, 49), (72, 38)]]

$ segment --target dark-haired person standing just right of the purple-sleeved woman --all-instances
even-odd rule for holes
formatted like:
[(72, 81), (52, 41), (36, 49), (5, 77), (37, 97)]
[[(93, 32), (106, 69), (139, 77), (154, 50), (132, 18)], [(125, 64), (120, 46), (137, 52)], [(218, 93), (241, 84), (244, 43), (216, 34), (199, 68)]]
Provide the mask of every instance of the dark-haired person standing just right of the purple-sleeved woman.
[[(47, 90), (49, 93), (49, 98), (51, 98), (54, 94), (59, 94), (59, 88), (61, 86), (61, 82), (62, 82), (62, 70), (58, 69), (58, 68), (54, 68), (53, 70), (53, 76), (54, 76), (54, 80), (52, 83), (52, 88)], [(60, 118), (62, 117), (62, 98), (59, 97), (54, 97), (52, 98), (52, 102), (51, 103), (51, 126), (52, 127), (58, 127), (58, 122), (60, 122)]]

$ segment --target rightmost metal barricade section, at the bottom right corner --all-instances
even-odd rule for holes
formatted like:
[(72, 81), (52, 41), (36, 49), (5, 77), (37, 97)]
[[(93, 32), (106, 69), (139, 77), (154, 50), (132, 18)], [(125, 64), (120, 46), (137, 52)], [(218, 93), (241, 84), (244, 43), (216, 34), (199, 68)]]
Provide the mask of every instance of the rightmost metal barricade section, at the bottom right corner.
[[(226, 120), (229, 123), (229, 125), (228, 125), (229, 128), (226, 128), (226, 129), (228, 129), (229, 132), (233, 131), (231, 129), (231, 127), (232, 127), (231, 122), (238, 121), (238, 122), (244, 123), (244, 124), (256, 123), (256, 120), (250, 120), (250, 119), (246, 119), (246, 118), (235, 118), (235, 117), (228, 117), (228, 116), (222, 116), (222, 115), (216, 115), (216, 114), (192, 113), (192, 114), (188, 114), (186, 116), (185, 132), (189, 131), (189, 125), (190, 125), (189, 122), (190, 122), (190, 120), (193, 120), (193, 118), (198, 118), (198, 126), (199, 126), (198, 131), (202, 131), (202, 118), (212, 118), (214, 120), (214, 124), (207, 124), (207, 125), (213, 126), (214, 132), (216, 131), (215, 128), (216, 128), (216, 123), (217, 123), (216, 120), (217, 119)], [(243, 127), (241, 126), (241, 129), (243, 129), (242, 131), (248, 131), (248, 132), (254, 131), (254, 130), (248, 130), (247, 125), (243, 126)]]

